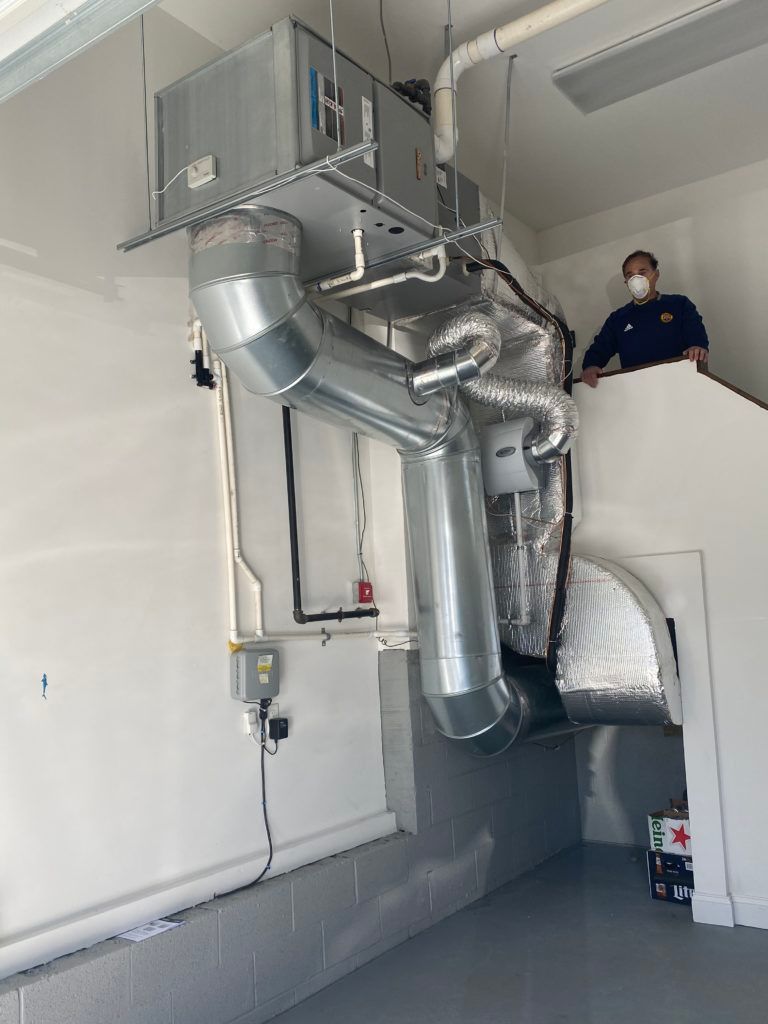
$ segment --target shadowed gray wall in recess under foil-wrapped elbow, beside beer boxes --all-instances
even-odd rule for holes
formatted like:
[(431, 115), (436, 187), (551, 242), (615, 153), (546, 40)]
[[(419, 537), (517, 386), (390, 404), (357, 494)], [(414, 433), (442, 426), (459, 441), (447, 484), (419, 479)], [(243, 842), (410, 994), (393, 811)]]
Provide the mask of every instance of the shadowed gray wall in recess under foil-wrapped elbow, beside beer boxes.
[(647, 846), (648, 812), (685, 790), (681, 736), (654, 726), (599, 726), (577, 736), (582, 836)]

